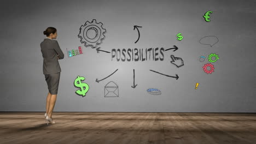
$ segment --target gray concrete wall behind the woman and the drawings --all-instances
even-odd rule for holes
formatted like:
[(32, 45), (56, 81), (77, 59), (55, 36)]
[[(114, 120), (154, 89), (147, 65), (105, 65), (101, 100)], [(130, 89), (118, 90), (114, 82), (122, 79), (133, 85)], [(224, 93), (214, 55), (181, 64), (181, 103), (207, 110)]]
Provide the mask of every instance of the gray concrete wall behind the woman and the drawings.
[[(55, 27), (65, 58), (59, 60), (62, 71), (54, 111), (255, 112), (255, 6), (253, 0), (2, 1), (0, 111), (45, 111), (48, 88), (40, 43), (43, 31)], [(206, 22), (203, 15), (209, 10), (213, 13)], [(95, 48), (86, 47), (78, 38), (79, 28), (93, 19), (107, 31)], [(141, 26), (137, 43), (138, 31), (133, 26)], [(182, 33), (181, 41), (178, 33)], [(88, 31), (88, 37), (94, 34)], [(200, 44), (209, 35), (216, 36), (218, 43)], [(207, 38), (203, 43), (216, 42)], [(163, 61), (112, 59), (113, 49), (167, 50), (173, 45), (178, 50), (164, 51)], [(68, 57), (67, 50), (78, 46), (83, 54)], [(110, 53), (97, 53), (98, 47)], [(202, 67), (210, 63), (211, 53), (219, 59), (212, 63), (214, 72), (207, 74)], [(171, 55), (182, 58), (184, 65), (172, 64)], [(205, 61), (200, 62), (200, 56)], [(135, 88), (131, 87), (133, 69)], [(176, 74), (177, 80), (169, 77)], [(75, 94), (78, 75), (90, 87), (85, 97)], [(104, 97), (110, 81), (118, 85), (119, 97)], [(148, 88), (159, 89), (161, 94), (149, 94)]]

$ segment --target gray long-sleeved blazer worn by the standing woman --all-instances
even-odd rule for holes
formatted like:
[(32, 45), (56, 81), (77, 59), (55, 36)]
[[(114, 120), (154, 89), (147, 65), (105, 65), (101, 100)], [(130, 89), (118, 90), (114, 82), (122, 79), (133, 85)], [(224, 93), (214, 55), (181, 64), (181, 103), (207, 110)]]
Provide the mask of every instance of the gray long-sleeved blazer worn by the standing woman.
[(41, 47), (41, 52), (44, 58), (44, 63), (43, 63), (44, 75), (60, 73), (61, 68), (60, 68), (57, 55), (60, 56), (60, 59), (63, 59), (64, 53), (60, 49), (58, 41), (45, 38), (44, 41), (40, 43), (40, 47)]

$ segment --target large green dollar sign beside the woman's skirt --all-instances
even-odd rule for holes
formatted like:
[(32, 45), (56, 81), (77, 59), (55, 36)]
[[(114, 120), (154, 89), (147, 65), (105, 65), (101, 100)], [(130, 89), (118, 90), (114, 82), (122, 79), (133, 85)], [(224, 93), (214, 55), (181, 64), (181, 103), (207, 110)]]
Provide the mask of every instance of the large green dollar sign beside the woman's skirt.
[(87, 83), (82, 82), (84, 80), (85, 78), (83, 76), (77, 76), (77, 79), (74, 80), (74, 86), (80, 88), (77, 91), (75, 91), (75, 93), (78, 95), (82, 95), (83, 97), (85, 97), (86, 93), (89, 90), (89, 85)]

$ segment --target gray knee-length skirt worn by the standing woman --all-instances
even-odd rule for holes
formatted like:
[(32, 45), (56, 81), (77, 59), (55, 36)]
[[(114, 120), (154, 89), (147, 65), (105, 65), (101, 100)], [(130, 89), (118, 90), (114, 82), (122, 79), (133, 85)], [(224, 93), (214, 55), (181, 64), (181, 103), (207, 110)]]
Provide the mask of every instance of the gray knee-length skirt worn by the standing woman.
[(60, 73), (44, 75), (51, 94), (57, 94), (60, 82)]

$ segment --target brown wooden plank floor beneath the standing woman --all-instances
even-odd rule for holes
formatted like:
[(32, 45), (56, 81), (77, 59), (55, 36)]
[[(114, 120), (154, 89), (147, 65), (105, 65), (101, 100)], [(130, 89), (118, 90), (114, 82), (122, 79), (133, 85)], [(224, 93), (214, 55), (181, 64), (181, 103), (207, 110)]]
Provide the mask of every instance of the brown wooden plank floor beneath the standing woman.
[(256, 143), (256, 113), (0, 112), (0, 143)]

